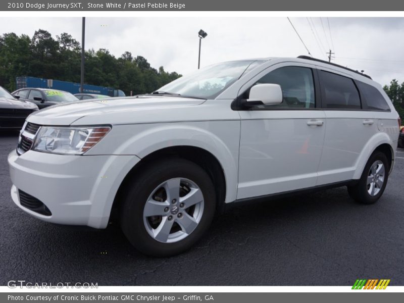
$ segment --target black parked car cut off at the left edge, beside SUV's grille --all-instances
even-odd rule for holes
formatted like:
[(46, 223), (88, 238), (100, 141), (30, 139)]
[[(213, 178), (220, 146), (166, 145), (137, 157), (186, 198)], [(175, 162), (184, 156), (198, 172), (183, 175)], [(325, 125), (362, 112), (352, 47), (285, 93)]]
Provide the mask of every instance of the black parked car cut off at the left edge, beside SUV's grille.
[(36, 105), (18, 100), (0, 86), (0, 129), (21, 129), (28, 115), (37, 110)]

